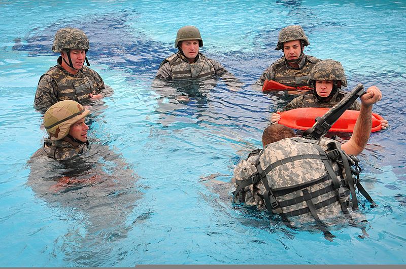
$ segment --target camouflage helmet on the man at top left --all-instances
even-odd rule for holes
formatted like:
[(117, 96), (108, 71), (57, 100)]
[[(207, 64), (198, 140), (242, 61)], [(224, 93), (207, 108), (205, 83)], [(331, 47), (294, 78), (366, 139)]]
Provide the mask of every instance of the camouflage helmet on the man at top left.
[(63, 50), (85, 50), (89, 49), (89, 40), (86, 34), (76, 28), (61, 28), (55, 33), (52, 51), (61, 52)]

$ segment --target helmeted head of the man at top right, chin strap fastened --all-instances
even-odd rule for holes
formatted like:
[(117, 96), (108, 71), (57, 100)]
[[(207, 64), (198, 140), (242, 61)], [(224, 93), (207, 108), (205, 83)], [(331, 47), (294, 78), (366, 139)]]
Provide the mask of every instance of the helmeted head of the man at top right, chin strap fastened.
[(303, 29), (299, 25), (290, 25), (279, 32), (275, 50), (283, 50), (286, 60), (294, 63), (299, 60), (304, 47), (309, 44)]

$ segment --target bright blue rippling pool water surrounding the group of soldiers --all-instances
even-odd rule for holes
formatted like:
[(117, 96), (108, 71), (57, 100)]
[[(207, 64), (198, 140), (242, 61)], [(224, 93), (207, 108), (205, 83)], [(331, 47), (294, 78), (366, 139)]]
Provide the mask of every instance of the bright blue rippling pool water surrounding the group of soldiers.
[[(406, 2), (2, 1), (0, 21), (0, 266), (405, 263)], [(373, 133), (360, 155), (364, 186), (379, 205), (360, 198), (363, 239), (344, 225), (329, 242), (318, 230), (233, 209), (227, 189), (210, 180), (228, 182), (260, 146), (270, 112), (286, 104), (252, 84), (281, 56), (278, 32), (290, 24), (308, 34), (307, 54), (342, 62), (348, 89), (375, 84), (383, 92), (374, 111), (390, 128)], [(239, 92), (221, 80), (154, 86), (184, 25), (200, 29), (202, 52), (244, 83)], [(104, 189), (41, 195), (27, 184), (27, 161), (45, 137), (33, 97), (57, 58), (53, 35), (65, 26), (88, 34), (91, 67), (114, 89), (92, 108), (89, 139), (121, 153), (136, 191), (114, 195), (111, 206), (100, 199)], [(177, 103), (179, 94), (191, 101)]]

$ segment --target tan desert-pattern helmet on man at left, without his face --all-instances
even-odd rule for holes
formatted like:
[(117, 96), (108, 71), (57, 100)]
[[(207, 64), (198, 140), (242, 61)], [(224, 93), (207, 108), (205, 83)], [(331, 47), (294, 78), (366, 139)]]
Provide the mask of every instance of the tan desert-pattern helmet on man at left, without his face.
[(69, 134), (71, 126), (85, 118), (90, 111), (73, 100), (59, 101), (44, 114), (44, 127), (51, 140), (60, 140)]

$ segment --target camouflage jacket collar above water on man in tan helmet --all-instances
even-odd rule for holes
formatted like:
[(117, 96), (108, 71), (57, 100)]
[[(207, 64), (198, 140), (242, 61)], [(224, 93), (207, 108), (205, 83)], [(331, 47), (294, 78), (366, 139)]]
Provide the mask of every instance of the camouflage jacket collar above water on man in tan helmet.
[(69, 142), (64, 140), (51, 140), (45, 139), (43, 147), (38, 149), (31, 157), (49, 157), (56, 161), (66, 161), (72, 159), (87, 150), (87, 143), (75, 147)]

